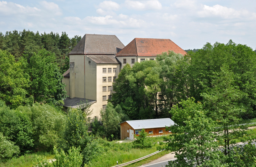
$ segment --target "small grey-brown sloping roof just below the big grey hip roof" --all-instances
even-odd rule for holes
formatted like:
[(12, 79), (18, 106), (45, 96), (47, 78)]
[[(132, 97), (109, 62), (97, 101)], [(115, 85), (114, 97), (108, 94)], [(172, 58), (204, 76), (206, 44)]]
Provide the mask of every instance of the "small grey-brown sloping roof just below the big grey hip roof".
[(119, 64), (114, 55), (86, 55), (97, 64)]

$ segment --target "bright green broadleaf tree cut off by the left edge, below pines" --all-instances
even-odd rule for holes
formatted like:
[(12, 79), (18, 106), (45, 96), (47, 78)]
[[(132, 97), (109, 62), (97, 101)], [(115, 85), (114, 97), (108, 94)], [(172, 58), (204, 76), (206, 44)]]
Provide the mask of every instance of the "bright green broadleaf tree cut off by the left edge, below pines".
[(13, 55), (0, 49), (0, 99), (12, 108), (26, 99), (29, 80), (21, 65), (21, 61), (15, 62)]

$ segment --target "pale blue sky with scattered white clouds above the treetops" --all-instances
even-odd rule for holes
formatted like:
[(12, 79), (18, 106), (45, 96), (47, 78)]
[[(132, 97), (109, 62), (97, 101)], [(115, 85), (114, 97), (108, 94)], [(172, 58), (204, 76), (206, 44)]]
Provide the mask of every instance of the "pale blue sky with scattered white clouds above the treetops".
[(0, 0), (0, 32), (30, 30), (170, 39), (182, 49), (207, 42), (256, 48), (256, 0)]

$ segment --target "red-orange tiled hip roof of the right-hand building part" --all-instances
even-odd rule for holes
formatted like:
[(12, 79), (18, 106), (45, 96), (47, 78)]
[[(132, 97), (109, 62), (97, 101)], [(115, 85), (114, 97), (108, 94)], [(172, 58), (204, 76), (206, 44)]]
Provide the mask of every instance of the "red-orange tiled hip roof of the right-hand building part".
[(116, 56), (156, 56), (169, 50), (183, 55), (187, 54), (169, 39), (134, 38)]

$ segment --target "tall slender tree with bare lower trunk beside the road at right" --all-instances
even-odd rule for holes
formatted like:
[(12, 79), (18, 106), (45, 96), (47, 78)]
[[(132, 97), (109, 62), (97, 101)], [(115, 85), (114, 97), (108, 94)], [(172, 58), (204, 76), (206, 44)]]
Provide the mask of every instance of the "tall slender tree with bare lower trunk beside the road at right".
[(227, 66), (223, 66), (212, 80), (213, 88), (202, 93), (208, 114), (219, 125), (216, 130), (221, 140), (224, 140), (225, 155), (230, 152), (230, 142), (246, 133), (245, 129), (238, 129), (237, 124), (246, 112), (247, 107), (242, 99), (246, 99), (247, 94), (234, 86), (234, 82), (234, 73)]

